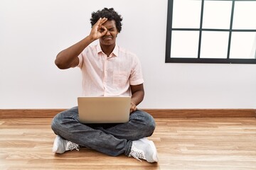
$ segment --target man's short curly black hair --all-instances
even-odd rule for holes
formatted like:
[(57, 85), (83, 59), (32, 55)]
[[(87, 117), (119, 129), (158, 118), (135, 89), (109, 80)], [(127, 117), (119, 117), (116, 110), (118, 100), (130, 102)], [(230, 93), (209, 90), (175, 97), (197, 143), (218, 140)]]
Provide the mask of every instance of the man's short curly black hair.
[(114, 8), (103, 8), (102, 10), (98, 10), (97, 12), (92, 12), (92, 18), (90, 18), (90, 23), (92, 26), (97, 23), (100, 18), (107, 18), (108, 21), (114, 20), (116, 23), (116, 27), (118, 32), (120, 33), (122, 30), (122, 16), (119, 15)]

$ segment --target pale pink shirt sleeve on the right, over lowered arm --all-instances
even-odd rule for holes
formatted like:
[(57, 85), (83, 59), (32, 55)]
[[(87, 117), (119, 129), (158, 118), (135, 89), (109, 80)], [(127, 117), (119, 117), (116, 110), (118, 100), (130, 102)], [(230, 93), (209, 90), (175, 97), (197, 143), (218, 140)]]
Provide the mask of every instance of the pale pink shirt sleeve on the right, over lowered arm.
[(143, 75), (142, 75), (142, 66), (139, 61), (139, 58), (135, 55), (134, 62), (132, 67), (132, 73), (129, 79), (130, 85), (139, 85), (144, 83)]

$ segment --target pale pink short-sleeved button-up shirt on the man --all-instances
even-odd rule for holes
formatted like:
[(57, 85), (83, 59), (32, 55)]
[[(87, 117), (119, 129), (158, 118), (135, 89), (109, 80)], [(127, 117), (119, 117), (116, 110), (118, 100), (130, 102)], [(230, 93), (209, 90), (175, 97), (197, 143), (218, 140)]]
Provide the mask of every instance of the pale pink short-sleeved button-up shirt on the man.
[(78, 57), (84, 96), (131, 96), (130, 85), (144, 82), (137, 55), (117, 45), (109, 57), (100, 45), (86, 47)]

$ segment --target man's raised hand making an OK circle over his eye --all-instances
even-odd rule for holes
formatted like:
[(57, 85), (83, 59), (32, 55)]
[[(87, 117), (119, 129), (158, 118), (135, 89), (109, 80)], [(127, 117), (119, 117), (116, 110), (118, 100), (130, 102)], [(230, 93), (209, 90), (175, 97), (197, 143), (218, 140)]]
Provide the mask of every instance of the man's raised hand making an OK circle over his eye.
[(107, 21), (107, 18), (100, 18), (94, 26), (92, 26), (92, 30), (90, 32), (90, 38), (92, 40), (97, 40), (101, 38), (103, 35), (107, 33), (107, 28), (102, 24)]

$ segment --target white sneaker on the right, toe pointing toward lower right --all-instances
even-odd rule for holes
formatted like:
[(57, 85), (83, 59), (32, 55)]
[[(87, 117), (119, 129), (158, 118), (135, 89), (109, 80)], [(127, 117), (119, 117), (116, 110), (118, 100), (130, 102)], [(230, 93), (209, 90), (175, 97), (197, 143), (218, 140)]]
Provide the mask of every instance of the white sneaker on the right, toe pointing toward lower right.
[(131, 152), (129, 157), (134, 157), (141, 161), (144, 159), (147, 162), (153, 163), (158, 162), (157, 151), (154, 142), (146, 139), (146, 137), (140, 140), (132, 141)]

